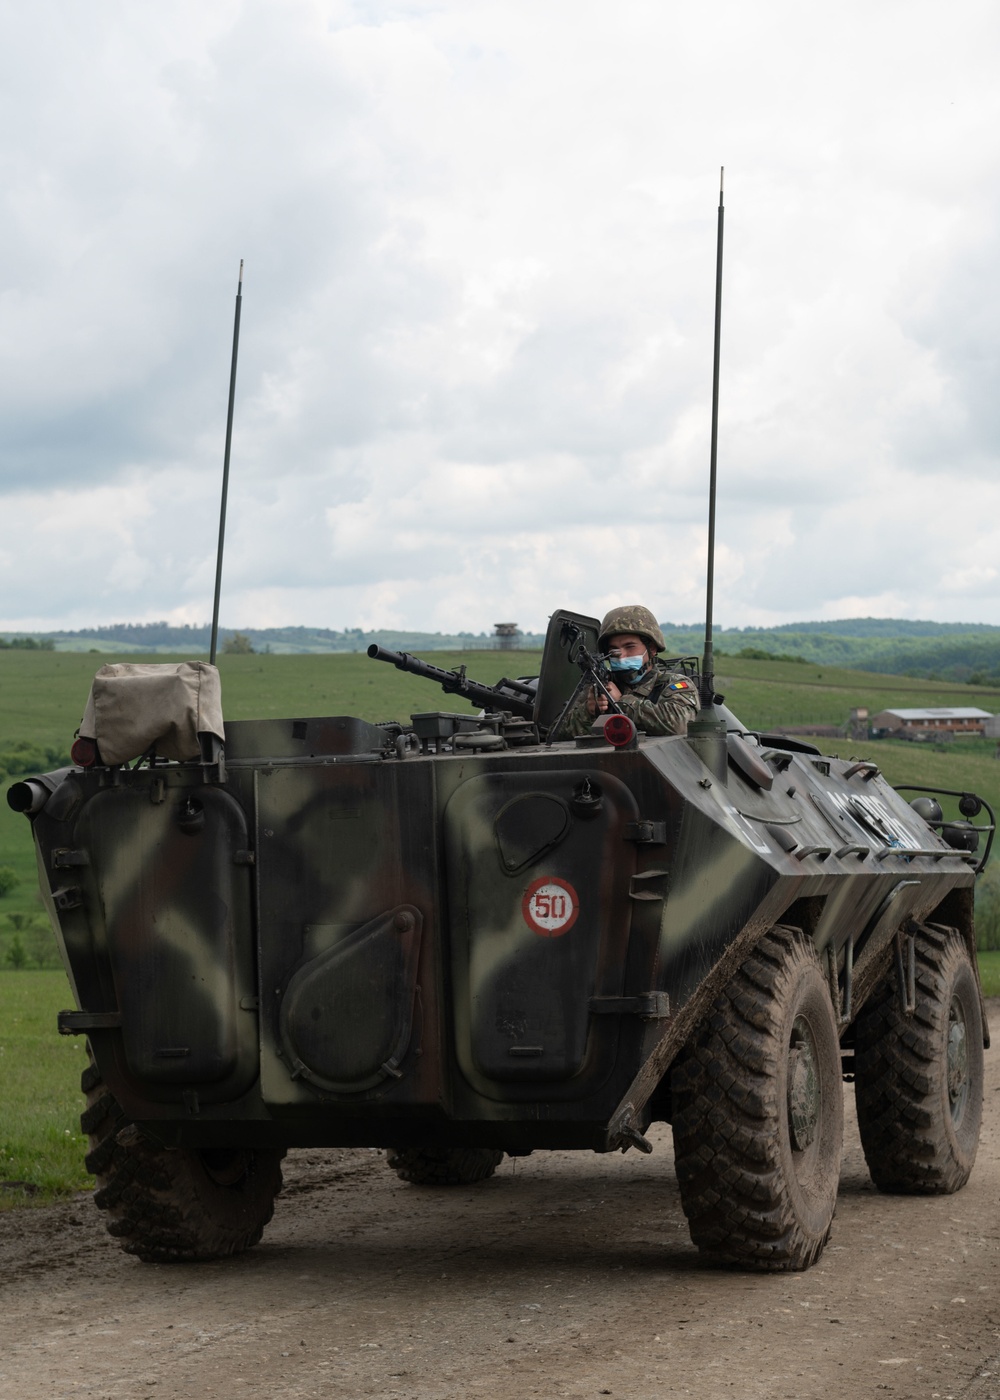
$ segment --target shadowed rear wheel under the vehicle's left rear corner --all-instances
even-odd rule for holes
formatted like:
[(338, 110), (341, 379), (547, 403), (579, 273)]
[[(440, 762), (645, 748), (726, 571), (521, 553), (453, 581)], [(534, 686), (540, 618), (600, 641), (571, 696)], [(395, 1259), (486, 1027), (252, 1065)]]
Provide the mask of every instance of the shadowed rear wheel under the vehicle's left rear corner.
[(80, 1082), (90, 1138), (87, 1170), (108, 1232), (126, 1254), (148, 1264), (238, 1254), (256, 1245), (275, 1214), (283, 1151), (167, 1151), (148, 1142), (122, 1113), (97, 1065)]

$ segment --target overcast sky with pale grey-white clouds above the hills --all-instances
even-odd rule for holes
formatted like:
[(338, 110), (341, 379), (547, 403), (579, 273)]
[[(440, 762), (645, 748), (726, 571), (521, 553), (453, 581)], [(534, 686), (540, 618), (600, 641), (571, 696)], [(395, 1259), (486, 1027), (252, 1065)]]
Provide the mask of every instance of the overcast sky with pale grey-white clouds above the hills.
[(4, 0), (0, 627), (1000, 623), (994, 0)]

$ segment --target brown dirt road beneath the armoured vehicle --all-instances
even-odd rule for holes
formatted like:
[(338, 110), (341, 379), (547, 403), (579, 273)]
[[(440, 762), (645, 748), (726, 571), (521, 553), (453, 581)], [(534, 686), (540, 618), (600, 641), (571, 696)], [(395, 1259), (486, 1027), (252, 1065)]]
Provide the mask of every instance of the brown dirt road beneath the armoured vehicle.
[(997, 1049), (986, 1065), (952, 1197), (873, 1189), (847, 1089), (807, 1274), (700, 1261), (668, 1128), (651, 1158), (536, 1154), (438, 1191), (378, 1152), (294, 1152), (263, 1243), (220, 1264), (127, 1259), (87, 1197), (0, 1215), (0, 1397), (1000, 1400)]

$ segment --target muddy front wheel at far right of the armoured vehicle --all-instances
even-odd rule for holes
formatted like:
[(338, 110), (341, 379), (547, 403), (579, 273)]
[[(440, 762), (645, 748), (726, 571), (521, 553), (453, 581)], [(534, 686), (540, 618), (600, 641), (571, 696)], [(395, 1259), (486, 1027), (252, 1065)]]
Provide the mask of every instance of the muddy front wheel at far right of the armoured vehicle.
[(861, 1147), (880, 1191), (947, 1196), (965, 1186), (983, 1112), (979, 986), (955, 930), (916, 941), (916, 1009), (895, 974), (861, 1008), (854, 1044)]

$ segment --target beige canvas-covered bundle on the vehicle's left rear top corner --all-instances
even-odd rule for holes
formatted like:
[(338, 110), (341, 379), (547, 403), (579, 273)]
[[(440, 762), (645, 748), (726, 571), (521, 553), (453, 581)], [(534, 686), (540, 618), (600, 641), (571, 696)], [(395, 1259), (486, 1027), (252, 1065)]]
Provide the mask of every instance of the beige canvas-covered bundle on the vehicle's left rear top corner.
[(204, 661), (101, 666), (80, 735), (102, 763), (127, 763), (150, 748), (164, 759), (197, 759), (199, 734), (225, 738), (218, 671)]

